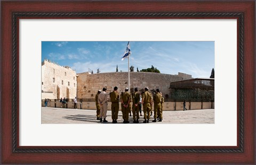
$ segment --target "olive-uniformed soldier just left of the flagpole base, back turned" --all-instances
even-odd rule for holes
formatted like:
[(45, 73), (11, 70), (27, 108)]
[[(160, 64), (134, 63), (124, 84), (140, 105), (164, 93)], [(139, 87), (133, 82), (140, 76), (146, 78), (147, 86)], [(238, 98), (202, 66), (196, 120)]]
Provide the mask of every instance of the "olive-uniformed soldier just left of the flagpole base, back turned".
[(130, 123), (129, 122), (129, 112), (130, 112), (130, 101), (131, 101), (131, 94), (128, 92), (128, 88), (125, 88), (125, 92), (121, 96), (121, 102), (124, 107), (123, 109), (123, 123)]

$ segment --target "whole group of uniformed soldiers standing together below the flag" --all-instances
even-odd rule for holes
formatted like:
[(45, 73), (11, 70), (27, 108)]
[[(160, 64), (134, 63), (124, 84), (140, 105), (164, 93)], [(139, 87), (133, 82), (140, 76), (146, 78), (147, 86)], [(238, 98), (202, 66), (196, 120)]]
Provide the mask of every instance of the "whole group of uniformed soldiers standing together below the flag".
[[(163, 103), (164, 97), (159, 89), (156, 89), (156, 92), (153, 95), (148, 91), (148, 88), (145, 88), (145, 91), (142, 93), (138, 92), (138, 88), (134, 89), (134, 93), (130, 93), (128, 88), (125, 88), (125, 92), (121, 94), (118, 93), (118, 88), (115, 86), (114, 91), (109, 93), (110, 102), (111, 102), (111, 117), (112, 123), (117, 123), (118, 112), (119, 112), (119, 100), (121, 100), (121, 109), (123, 123), (130, 123), (129, 114), (131, 115), (131, 109), (133, 114), (133, 123), (139, 123), (139, 118), (141, 116), (140, 106), (143, 106), (144, 121), (143, 123), (149, 123), (150, 116), (153, 111), (153, 102), (154, 102), (154, 120), (156, 122), (163, 120)], [(107, 88), (103, 88), (102, 91), (99, 90), (95, 95), (95, 104), (97, 107), (97, 120), (103, 123), (108, 122), (107, 117), (107, 101), (108, 93), (106, 92)], [(132, 102), (132, 106), (130, 103)], [(140, 115), (139, 115), (140, 112)]]

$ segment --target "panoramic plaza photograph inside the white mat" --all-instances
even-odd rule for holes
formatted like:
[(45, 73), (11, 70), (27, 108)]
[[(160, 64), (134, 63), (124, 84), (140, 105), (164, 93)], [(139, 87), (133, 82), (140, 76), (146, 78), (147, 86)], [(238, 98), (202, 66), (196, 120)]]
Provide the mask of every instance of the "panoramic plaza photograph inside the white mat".
[(42, 41), (42, 124), (214, 124), (214, 41)]

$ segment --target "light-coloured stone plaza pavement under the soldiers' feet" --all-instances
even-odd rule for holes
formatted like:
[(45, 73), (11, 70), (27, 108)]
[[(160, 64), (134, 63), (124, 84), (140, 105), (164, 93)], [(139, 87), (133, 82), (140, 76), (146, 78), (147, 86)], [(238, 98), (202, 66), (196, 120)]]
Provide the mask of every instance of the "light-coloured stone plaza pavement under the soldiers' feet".
[[(42, 107), (42, 124), (103, 124), (96, 120), (95, 110), (86, 109), (63, 109)], [(111, 111), (108, 110), (108, 123), (112, 124)], [(214, 124), (214, 109), (199, 109), (186, 111), (163, 111), (163, 121), (152, 123), (154, 112), (148, 124)], [(129, 117), (130, 124), (134, 124), (132, 116)], [(143, 112), (139, 124), (144, 121)], [(122, 112), (119, 111), (117, 124), (123, 124)]]

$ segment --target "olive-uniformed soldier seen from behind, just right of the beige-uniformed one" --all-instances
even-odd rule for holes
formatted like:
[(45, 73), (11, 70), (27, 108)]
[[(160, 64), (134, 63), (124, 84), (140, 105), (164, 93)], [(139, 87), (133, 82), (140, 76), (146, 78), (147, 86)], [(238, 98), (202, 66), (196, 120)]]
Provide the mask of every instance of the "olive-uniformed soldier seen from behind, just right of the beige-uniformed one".
[(117, 86), (114, 87), (114, 91), (109, 93), (111, 101), (112, 123), (117, 123), (118, 111), (119, 111), (119, 93), (117, 92)]

